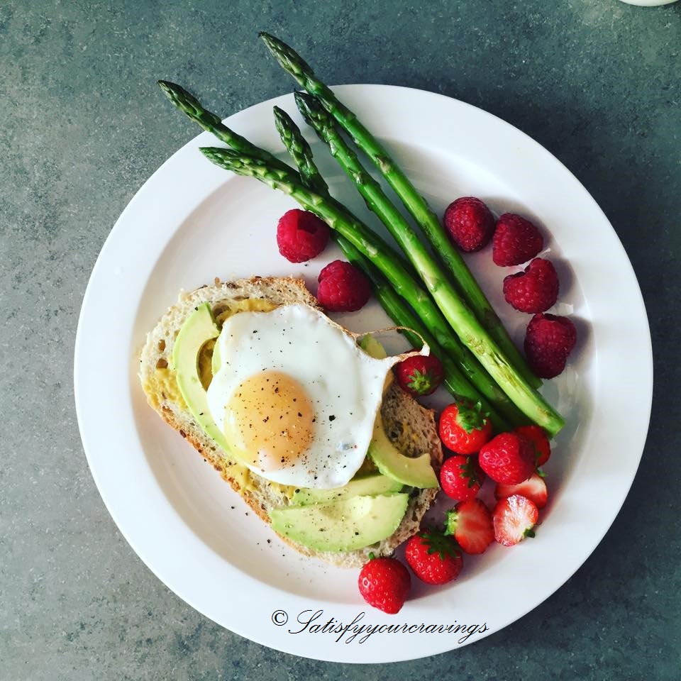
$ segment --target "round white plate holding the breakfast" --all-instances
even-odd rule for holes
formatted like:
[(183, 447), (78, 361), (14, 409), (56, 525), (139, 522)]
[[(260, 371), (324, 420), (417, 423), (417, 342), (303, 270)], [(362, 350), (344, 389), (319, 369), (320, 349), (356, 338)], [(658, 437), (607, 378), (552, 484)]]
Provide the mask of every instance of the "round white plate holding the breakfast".
[[(82, 306), (74, 380), (94, 480), (121, 532), (160, 580), (258, 643), (320, 660), (378, 663), (433, 655), (499, 631), (580, 567), (636, 473), (648, 428), (652, 358), (646, 311), (621, 243), (558, 160), (507, 123), (444, 96), (382, 85), (336, 92), (387, 143), (437, 211), (472, 194), (497, 214), (521, 212), (543, 226), (561, 281), (554, 311), (572, 316), (580, 343), (569, 370), (543, 388), (567, 426), (546, 465), (551, 498), (537, 538), (466, 557), (455, 583), (415, 585), (397, 616), (384, 615), (362, 602), (355, 570), (305, 560), (279, 542), (147, 406), (136, 377), (138, 351), (180, 289), (216, 276), (259, 274), (303, 275), (314, 291), (321, 266), (338, 257), (329, 248), (304, 266), (279, 256), (275, 224), (294, 204), (211, 165), (198, 151), (216, 144), (207, 133), (150, 177), (106, 240)], [(287, 95), (231, 116), (228, 125), (283, 151), (272, 124), (274, 104), (297, 113)], [(314, 151), (333, 191), (375, 224), (326, 150), (315, 143)], [(521, 342), (529, 317), (512, 311), (500, 294), (511, 270), (494, 266), (489, 249), (469, 261)], [(388, 320), (372, 303), (341, 321), (362, 331)], [(630, 386), (636, 387), (634, 411)], [(329, 632), (340, 623), (411, 630), (381, 629), (366, 639), (366, 629), (354, 638), (353, 629)], [(421, 624), (466, 631), (415, 631)]]

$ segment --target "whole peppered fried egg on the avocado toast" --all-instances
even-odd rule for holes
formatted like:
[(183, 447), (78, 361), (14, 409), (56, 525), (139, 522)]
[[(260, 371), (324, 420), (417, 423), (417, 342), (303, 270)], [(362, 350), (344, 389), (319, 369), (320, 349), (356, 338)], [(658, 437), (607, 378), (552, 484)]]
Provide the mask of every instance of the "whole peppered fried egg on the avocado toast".
[(403, 355), (372, 358), (301, 304), (235, 314), (216, 345), (209, 409), (240, 460), (282, 485), (347, 484), (367, 453), (387, 372)]

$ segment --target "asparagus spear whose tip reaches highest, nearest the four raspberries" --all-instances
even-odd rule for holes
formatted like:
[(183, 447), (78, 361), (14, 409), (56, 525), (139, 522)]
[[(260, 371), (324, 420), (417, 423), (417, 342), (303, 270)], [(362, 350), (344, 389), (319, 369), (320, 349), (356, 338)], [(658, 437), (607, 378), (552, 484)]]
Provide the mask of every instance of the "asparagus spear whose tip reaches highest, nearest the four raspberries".
[(509, 338), (499, 316), (487, 301), (485, 293), (482, 292), (460, 253), (445, 234), (438, 217), (387, 150), (362, 125), (357, 116), (338, 100), (333, 91), (321, 82), (309, 64), (295, 50), (269, 33), (260, 33), (260, 38), (284, 70), (291, 74), (309, 94), (314, 95), (319, 100), (324, 109), (353, 138), (355, 144), (370, 157), (431, 242), (433, 250), (445, 262), (482, 326), (494, 338), (509, 362), (516, 367), (517, 372), (524, 377), (526, 382), (531, 387), (539, 387), (541, 380), (531, 372), (526, 361)]

